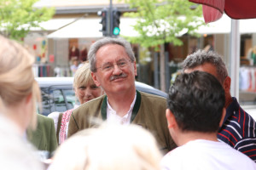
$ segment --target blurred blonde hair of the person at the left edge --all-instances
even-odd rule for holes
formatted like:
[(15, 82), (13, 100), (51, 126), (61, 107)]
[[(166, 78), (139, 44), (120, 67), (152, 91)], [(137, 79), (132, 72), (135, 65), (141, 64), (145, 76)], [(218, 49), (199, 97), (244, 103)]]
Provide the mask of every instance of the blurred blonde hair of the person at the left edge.
[(33, 110), (30, 126), (37, 122), (36, 101), (40, 102), (40, 89), (34, 79), (34, 57), (18, 42), (0, 36), (0, 110), (19, 105), (22, 99), (32, 94)]

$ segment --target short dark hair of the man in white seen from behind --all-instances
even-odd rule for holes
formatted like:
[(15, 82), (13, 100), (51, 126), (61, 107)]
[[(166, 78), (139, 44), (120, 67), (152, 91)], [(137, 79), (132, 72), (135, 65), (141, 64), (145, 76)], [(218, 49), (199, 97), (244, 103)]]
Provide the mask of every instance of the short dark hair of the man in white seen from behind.
[(183, 132), (217, 132), (224, 103), (224, 88), (203, 71), (178, 75), (167, 98), (168, 109)]

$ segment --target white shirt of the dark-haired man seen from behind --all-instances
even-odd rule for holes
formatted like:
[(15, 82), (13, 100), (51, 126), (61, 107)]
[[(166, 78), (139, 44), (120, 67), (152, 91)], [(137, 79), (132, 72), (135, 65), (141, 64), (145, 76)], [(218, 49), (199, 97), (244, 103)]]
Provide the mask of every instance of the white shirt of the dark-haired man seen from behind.
[(256, 164), (222, 142), (196, 139), (170, 151), (161, 160), (165, 170), (256, 170)]

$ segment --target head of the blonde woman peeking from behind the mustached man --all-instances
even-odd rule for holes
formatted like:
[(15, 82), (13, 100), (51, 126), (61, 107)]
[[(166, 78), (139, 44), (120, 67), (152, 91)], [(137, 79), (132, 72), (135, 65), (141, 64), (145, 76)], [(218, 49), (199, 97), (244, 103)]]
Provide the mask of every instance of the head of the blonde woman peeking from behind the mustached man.
[(73, 89), (81, 105), (90, 99), (95, 99), (103, 94), (102, 88), (97, 87), (92, 80), (88, 62), (84, 62), (84, 64), (75, 72)]

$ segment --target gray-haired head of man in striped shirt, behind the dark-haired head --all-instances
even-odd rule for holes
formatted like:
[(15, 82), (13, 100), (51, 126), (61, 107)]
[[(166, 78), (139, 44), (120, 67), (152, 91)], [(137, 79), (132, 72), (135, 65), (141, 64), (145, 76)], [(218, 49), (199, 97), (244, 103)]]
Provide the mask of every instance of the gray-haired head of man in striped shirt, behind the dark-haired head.
[(228, 75), (224, 60), (219, 54), (213, 51), (206, 52), (204, 50), (198, 50), (194, 54), (190, 54), (183, 60), (183, 72), (189, 73), (191, 71), (205, 71), (216, 77), (224, 88), (226, 106), (228, 105), (231, 99), (231, 79)]

